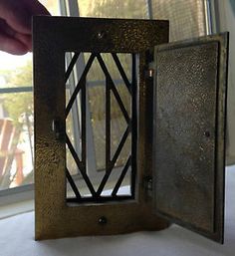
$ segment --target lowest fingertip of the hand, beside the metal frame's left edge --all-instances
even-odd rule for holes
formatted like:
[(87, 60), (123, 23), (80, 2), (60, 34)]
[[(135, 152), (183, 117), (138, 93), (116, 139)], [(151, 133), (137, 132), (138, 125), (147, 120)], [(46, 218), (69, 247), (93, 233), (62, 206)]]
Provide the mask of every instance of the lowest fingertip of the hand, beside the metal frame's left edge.
[(27, 46), (4, 34), (0, 34), (0, 50), (14, 55), (23, 55), (28, 52)]

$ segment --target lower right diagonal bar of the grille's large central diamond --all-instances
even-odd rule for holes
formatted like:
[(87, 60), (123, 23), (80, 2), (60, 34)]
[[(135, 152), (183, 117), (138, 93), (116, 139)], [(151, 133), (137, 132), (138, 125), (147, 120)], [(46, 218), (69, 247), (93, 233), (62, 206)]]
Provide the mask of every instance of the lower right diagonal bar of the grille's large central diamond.
[(100, 184), (100, 186), (99, 186), (99, 188), (97, 190), (97, 196), (101, 195), (101, 193), (102, 193), (102, 191), (103, 191), (103, 189), (104, 189), (104, 187), (105, 187), (105, 185), (106, 185), (106, 183), (107, 183), (107, 181), (108, 181), (108, 179), (109, 179), (109, 177), (111, 175), (111, 172), (112, 172), (112, 170), (113, 170), (113, 168), (114, 168), (114, 166), (116, 164), (117, 157), (118, 157), (118, 155), (119, 155), (119, 153), (120, 153), (120, 151), (121, 151), (121, 149), (122, 149), (122, 147), (124, 145), (124, 142), (125, 142), (125, 140), (126, 140), (126, 138), (128, 136), (128, 133), (129, 133), (129, 127), (127, 127), (125, 129), (125, 131), (124, 131), (124, 133), (123, 133), (123, 135), (122, 135), (122, 137), (120, 139), (120, 142), (118, 144), (116, 153), (115, 153), (115, 155), (114, 155), (114, 157), (113, 157), (113, 159), (112, 159), (112, 161), (110, 163), (109, 168), (107, 168), (106, 174), (105, 174), (104, 178), (102, 179), (102, 182), (101, 182), (101, 184)]

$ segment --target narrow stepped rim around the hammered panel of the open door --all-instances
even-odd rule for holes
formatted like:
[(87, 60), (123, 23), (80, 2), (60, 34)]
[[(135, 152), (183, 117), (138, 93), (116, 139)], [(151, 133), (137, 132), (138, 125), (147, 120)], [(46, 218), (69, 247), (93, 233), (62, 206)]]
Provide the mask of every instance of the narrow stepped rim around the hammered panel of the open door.
[[(164, 212), (157, 210), (154, 206), (154, 211), (161, 217), (166, 218), (167, 220), (174, 222), (178, 225), (181, 225), (191, 231), (197, 232), (211, 240), (223, 244), (224, 242), (224, 200), (225, 200), (225, 140), (226, 140), (226, 100), (227, 100), (227, 76), (228, 76), (228, 40), (229, 33), (224, 32), (217, 35), (211, 35), (206, 37), (200, 37), (190, 40), (184, 40), (169, 44), (164, 44), (155, 47), (154, 58), (157, 58), (157, 53), (160, 51), (166, 51), (171, 49), (176, 49), (178, 47), (183, 48), (187, 46), (193, 46), (198, 44), (206, 44), (209, 42), (218, 42), (219, 43), (219, 70), (218, 70), (218, 93), (217, 93), (217, 136), (216, 136), (216, 152), (215, 152), (215, 231), (213, 233), (206, 232), (196, 226), (191, 225), (190, 223), (182, 223), (183, 220), (175, 219), (170, 215), (167, 215)], [(156, 67), (155, 67), (155, 70)], [(157, 74), (156, 74), (157, 76)], [(156, 85), (156, 77), (154, 78), (154, 85)], [(155, 97), (155, 90), (153, 95)], [(156, 105), (153, 103), (153, 115), (155, 115)], [(154, 125), (153, 118), (153, 127)], [(154, 132), (154, 130), (153, 130)], [(153, 133), (153, 137), (155, 134)], [(154, 166), (154, 148), (157, 146), (154, 143), (153, 146), (153, 173), (158, 170)], [(154, 197), (154, 182), (153, 182), (153, 197)], [(155, 204), (155, 198), (153, 198)]]

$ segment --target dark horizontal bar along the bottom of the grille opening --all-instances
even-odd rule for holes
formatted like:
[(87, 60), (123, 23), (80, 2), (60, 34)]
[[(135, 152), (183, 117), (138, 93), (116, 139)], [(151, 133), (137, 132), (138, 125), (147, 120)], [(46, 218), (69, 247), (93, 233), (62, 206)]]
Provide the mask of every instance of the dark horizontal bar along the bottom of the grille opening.
[(99, 196), (99, 197), (81, 197), (79, 199), (75, 197), (67, 198), (67, 202), (69, 203), (81, 203), (81, 202), (107, 202), (107, 201), (123, 201), (123, 200), (131, 200), (132, 197), (130, 195), (116, 195), (116, 196)]

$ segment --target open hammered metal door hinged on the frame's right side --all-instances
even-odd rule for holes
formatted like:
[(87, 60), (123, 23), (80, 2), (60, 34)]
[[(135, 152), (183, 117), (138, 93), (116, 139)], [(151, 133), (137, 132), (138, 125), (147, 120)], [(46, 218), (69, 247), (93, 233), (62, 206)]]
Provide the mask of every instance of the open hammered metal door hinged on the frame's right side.
[(223, 243), (228, 33), (155, 47), (154, 211)]

